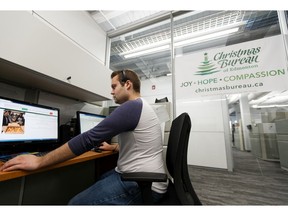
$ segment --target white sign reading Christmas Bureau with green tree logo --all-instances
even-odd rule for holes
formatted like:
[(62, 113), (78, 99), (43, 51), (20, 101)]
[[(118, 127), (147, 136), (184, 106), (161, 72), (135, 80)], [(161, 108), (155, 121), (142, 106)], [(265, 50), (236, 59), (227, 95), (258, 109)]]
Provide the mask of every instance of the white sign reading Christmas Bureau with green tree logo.
[(176, 97), (287, 90), (281, 35), (175, 59)]

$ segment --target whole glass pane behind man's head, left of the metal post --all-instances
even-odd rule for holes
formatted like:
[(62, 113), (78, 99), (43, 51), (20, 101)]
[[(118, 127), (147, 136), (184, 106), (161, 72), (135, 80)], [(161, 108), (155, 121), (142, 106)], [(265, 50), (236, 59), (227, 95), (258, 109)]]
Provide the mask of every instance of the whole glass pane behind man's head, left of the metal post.
[(149, 103), (172, 101), (171, 20), (167, 18), (111, 38), (110, 69), (134, 70), (141, 79), (141, 95)]

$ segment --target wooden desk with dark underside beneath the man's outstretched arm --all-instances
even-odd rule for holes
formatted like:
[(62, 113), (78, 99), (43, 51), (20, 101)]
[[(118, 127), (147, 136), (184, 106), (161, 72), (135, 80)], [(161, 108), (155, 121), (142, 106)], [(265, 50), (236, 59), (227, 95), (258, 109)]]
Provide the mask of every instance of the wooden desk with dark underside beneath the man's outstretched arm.
[(115, 167), (117, 157), (111, 151), (90, 151), (37, 171), (0, 172), (0, 205), (66, 205)]

